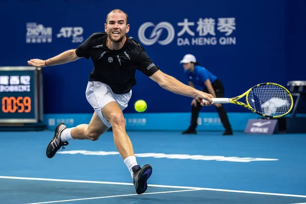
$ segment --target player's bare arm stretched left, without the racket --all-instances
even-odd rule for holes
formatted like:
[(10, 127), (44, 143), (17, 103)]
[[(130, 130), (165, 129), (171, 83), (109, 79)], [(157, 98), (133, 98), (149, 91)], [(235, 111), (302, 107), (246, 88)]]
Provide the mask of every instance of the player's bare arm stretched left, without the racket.
[(69, 49), (53, 58), (47, 60), (32, 59), (28, 61), (28, 65), (34, 67), (45, 67), (45, 66), (54, 66), (59, 64), (65, 64), (68, 62), (73, 62), (75, 60), (81, 59), (75, 54), (75, 49)]

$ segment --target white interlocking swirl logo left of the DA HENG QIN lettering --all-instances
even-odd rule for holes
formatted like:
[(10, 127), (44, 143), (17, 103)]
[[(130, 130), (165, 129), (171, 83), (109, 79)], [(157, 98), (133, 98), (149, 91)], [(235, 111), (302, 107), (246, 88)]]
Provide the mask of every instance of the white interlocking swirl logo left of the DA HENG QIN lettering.
[[(150, 39), (144, 36), (144, 32), (148, 27), (154, 27), (153, 31), (151, 32)], [(168, 32), (167, 38), (164, 40), (158, 40), (164, 29), (166, 29)], [(152, 45), (156, 42), (161, 45), (166, 45), (172, 42), (172, 40), (174, 39), (174, 32), (174, 28), (169, 22), (164, 21), (158, 23), (157, 25), (152, 22), (145, 22), (139, 27), (138, 38), (144, 45)]]

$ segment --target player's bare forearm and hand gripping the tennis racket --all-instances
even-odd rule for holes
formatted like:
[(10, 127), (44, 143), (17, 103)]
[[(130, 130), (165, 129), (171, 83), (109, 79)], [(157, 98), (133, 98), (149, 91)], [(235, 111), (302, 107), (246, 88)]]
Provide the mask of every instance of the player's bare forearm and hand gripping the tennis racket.
[(206, 99), (210, 102), (210, 103), (204, 102), (203, 104), (201, 103), (201, 106), (210, 106), (213, 104), (213, 101), (211, 99), (213, 98), (212, 94), (208, 94), (196, 90), (191, 86), (185, 85), (179, 80), (176, 80), (175, 78), (171, 77), (170, 75), (163, 73), (161, 70), (158, 70), (157, 72), (152, 74), (150, 76), (150, 79), (158, 83), (163, 89), (166, 89), (173, 93), (196, 98), (200, 103), (201, 99)]

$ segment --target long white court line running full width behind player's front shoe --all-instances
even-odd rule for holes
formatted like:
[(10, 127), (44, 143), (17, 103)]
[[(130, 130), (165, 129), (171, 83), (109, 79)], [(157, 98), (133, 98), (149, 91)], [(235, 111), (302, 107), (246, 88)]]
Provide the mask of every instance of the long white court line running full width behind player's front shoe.
[[(74, 182), (74, 183), (90, 183), (90, 184), (115, 184), (115, 185), (130, 185), (131, 183), (117, 183), (117, 182), (97, 182), (97, 181), (80, 181), (80, 180), (62, 180), (62, 179), (41, 179), (31, 177), (15, 177), (15, 176), (0, 176), (0, 179), (17, 179), (17, 180), (34, 180), (34, 181), (54, 181), (54, 182)], [(227, 189), (215, 189), (215, 188), (198, 188), (198, 187), (184, 187), (184, 186), (164, 186), (164, 185), (152, 185), (151, 187), (160, 188), (180, 188), (180, 189), (193, 189), (193, 190), (207, 190), (207, 191), (220, 191), (220, 192), (232, 192), (232, 193), (248, 193), (248, 194), (260, 194), (260, 195), (276, 195), (276, 196), (288, 196), (288, 197), (303, 197), (306, 195), (294, 195), (294, 194), (282, 194), (282, 193), (265, 193), (256, 191), (238, 191), (238, 190), (227, 190)]]

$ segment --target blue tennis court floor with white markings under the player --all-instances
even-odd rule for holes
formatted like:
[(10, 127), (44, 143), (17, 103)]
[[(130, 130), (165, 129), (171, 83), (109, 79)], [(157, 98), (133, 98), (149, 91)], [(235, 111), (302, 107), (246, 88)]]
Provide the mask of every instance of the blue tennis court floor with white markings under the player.
[(0, 203), (306, 203), (303, 134), (128, 132), (138, 163), (153, 167), (136, 194), (112, 132), (69, 141), (54, 132), (1, 132)]

